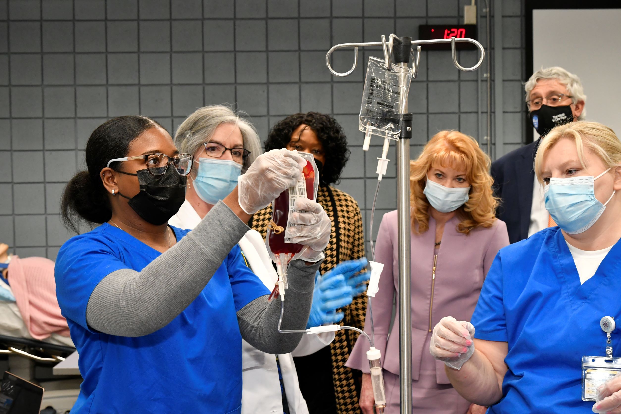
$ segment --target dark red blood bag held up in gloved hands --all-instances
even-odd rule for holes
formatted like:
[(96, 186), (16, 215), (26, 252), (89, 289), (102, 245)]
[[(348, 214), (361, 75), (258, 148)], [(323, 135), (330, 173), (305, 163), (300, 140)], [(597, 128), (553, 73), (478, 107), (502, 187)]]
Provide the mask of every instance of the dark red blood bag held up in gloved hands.
[[(302, 174), (296, 186), (289, 187), (272, 201), (272, 217), (268, 223), (268, 233), (265, 238), (270, 258), (276, 263), (276, 271), (279, 278), (284, 282), (284, 289), (287, 289), (287, 268), (292, 260), (301, 256), (306, 248), (304, 245), (292, 243), (291, 239), (284, 235), (289, 227), (294, 226), (289, 221), (291, 213), (296, 212), (295, 202), (299, 197), (307, 197), (313, 201), (317, 200), (317, 189), (319, 188), (319, 169), (315, 164), (312, 154), (299, 152), (297, 155), (306, 160), (306, 166), (302, 169)], [(274, 287), (270, 299), (278, 296), (278, 285)]]

